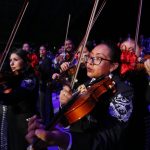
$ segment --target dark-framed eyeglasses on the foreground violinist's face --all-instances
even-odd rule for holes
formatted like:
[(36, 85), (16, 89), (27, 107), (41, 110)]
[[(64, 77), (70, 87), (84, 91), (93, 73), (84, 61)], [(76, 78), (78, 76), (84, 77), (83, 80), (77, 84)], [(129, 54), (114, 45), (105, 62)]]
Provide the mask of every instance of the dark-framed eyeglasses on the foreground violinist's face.
[(93, 65), (99, 65), (102, 60), (106, 60), (106, 61), (109, 61), (109, 62), (112, 62), (112, 60), (109, 60), (109, 59), (105, 59), (105, 58), (102, 58), (102, 57), (90, 57), (90, 56), (86, 56), (85, 57), (85, 62), (92, 62)]

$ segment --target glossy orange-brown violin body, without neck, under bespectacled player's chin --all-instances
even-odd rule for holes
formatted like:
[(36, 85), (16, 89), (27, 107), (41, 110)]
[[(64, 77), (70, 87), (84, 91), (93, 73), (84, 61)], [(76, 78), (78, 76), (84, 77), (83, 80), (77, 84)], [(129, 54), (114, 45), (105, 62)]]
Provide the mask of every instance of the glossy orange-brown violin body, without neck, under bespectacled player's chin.
[(87, 92), (78, 95), (76, 101), (65, 113), (65, 117), (67, 118), (69, 124), (80, 120), (90, 113), (96, 103), (100, 100), (100, 96), (108, 90), (112, 90), (112, 93), (114, 93), (116, 91), (114, 85), (115, 83), (112, 79), (109, 77), (104, 78), (102, 81), (88, 87)]

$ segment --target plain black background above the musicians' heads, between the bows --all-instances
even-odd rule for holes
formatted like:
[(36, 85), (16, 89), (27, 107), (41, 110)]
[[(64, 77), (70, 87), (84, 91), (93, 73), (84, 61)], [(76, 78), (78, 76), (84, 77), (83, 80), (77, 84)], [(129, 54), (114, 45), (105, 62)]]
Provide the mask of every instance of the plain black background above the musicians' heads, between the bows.
[[(0, 0), (0, 50), (3, 50), (22, 9), (24, 0)], [(102, 0), (99, 1), (99, 6)], [(128, 34), (135, 37), (140, 0), (108, 0), (94, 24), (89, 39), (119, 40)], [(28, 41), (32, 46), (47, 43), (59, 47), (65, 40), (68, 16), (71, 14), (68, 37), (78, 45), (82, 40), (94, 0), (29, 0), (12, 46)], [(99, 7), (98, 7), (99, 8)], [(143, 0), (139, 36), (150, 37), (149, 0)]]

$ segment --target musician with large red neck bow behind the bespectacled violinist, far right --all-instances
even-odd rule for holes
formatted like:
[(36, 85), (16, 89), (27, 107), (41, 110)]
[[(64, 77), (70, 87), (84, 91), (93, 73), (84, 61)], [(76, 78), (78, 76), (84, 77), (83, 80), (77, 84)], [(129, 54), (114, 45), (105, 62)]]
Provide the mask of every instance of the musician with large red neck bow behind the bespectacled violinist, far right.
[[(140, 54), (142, 48), (133, 38), (127, 38), (120, 43), (121, 54), (121, 77), (133, 89), (135, 100), (133, 103), (133, 114), (129, 126), (129, 144), (134, 148), (138, 145), (140, 149), (144, 147), (145, 139), (145, 124), (144, 118), (147, 118), (149, 111), (149, 75), (147, 56), (139, 57), (136, 51)], [(148, 122), (148, 121), (147, 121)], [(147, 128), (147, 127), (146, 127)], [(138, 131), (138, 132), (137, 132)], [(140, 136), (143, 135), (143, 136)], [(132, 139), (135, 139), (135, 142)]]

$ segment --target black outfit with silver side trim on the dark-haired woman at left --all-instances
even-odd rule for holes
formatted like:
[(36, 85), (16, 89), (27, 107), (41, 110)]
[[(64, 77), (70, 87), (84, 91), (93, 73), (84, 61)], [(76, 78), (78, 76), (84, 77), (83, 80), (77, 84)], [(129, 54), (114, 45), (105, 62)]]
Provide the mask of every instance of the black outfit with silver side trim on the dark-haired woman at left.
[(26, 119), (37, 112), (38, 83), (35, 76), (24, 74), (10, 85), (12, 92), (0, 91), (0, 150), (25, 150)]

